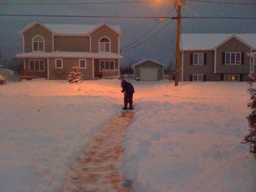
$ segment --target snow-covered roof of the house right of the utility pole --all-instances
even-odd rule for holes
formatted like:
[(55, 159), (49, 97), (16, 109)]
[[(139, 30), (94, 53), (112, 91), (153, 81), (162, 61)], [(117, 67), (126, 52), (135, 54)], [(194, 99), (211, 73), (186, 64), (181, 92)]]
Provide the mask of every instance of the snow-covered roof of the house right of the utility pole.
[(214, 50), (229, 38), (237, 38), (256, 49), (256, 34), (181, 34), (181, 50)]

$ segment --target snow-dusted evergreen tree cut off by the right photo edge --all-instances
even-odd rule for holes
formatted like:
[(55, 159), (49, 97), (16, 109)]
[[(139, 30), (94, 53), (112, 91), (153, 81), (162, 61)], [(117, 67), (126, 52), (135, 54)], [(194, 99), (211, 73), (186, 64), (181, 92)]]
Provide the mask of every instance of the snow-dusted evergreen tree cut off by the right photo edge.
[(248, 144), (250, 146), (250, 152), (256, 154), (256, 88), (252, 88), (252, 84), (256, 82), (255, 74), (250, 74), (248, 76), (248, 84), (250, 84), (250, 88), (247, 90), (251, 95), (250, 100), (247, 104), (252, 112), (246, 117), (249, 123), (249, 133), (244, 137), (242, 143)]

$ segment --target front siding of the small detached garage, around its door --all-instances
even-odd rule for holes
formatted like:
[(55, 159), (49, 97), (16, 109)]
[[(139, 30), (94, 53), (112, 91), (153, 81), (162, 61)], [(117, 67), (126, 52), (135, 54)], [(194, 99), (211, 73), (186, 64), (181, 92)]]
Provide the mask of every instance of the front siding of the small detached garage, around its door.
[(159, 81), (163, 79), (164, 67), (152, 61), (146, 61), (142, 64), (134, 66), (134, 79), (140, 78), (140, 68), (158, 68), (157, 80)]

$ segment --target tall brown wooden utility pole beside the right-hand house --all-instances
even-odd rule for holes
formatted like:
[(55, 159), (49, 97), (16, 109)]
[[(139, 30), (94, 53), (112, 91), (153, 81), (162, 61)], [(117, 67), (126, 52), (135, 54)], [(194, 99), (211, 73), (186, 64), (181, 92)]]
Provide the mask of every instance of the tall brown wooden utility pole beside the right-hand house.
[(175, 84), (179, 84), (179, 67), (180, 67), (180, 15), (181, 15), (181, 6), (183, 5), (183, 0), (174, 0), (175, 5), (178, 6), (178, 16), (177, 16), (177, 34), (176, 34), (176, 67), (175, 67)]

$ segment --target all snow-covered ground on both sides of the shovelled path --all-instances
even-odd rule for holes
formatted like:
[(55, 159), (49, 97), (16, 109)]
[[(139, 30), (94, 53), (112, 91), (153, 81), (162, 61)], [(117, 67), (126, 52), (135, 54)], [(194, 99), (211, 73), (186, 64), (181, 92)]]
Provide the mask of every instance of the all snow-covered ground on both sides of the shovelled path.
[[(246, 82), (129, 82), (136, 113), (122, 164), (135, 192), (256, 191), (256, 159), (240, 144)], [(62, 191), (90, 136), (120, 114), (120, 91), (119, 80), (1, 85), (0, 191)]]

